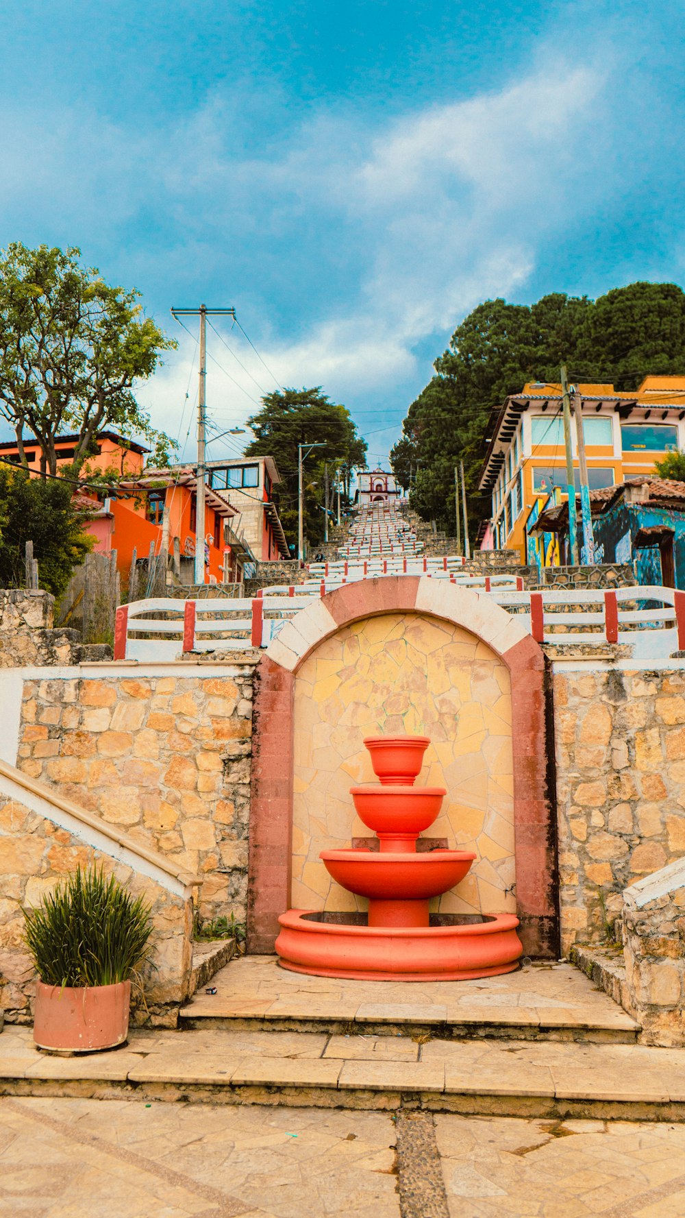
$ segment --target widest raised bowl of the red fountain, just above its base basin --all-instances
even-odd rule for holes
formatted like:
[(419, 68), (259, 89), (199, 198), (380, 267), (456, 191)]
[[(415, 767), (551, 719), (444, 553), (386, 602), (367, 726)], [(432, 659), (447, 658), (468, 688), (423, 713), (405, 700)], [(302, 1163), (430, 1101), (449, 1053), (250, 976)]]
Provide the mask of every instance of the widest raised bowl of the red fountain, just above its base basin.
[(425, 900), (459, 884), (476, 855), (470, 850), (428, 854), (321, 850), (330, 876), (349, 893), (380, 900)]

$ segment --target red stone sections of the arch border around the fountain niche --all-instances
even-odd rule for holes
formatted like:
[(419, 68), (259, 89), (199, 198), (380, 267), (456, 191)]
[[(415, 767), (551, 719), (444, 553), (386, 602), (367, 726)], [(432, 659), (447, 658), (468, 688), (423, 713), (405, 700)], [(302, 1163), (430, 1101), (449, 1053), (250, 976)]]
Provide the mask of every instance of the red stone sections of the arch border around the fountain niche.
[[(419, 585), (416, 576), (364, 580), (338, 588), (319, 604), (327, 609), (337, 628), (382, 613), (414, 611), (454, 621), (439, 609), (431, 613), (416, 607)], [(504, 614), (502, 620), (507, 618)], [(467, 621), (459, 625), (482, 637)], [(504, 650), (498, 649), (496, 639), (484, 642), (506, 664), (511, 680), (516, 903), (523, 951), (537, 959), (557, 959), (557, 850), (550, 798), (545, 658), (530, 635), (518, 637), (510, 647), (504, 636)], [(279, 914), (291, 905), (294, 681), (307, 654), (299, 657), (292, 671), (264, 654), (254, 675), (247, 894), (247, 950), (254, 954), (273, 952)]]

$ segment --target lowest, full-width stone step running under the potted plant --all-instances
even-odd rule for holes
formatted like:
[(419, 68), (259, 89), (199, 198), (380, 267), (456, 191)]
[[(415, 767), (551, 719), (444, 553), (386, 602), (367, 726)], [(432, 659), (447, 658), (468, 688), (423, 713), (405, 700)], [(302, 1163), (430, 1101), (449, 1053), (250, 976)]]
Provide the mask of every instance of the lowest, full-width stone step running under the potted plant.
[(0, 1094), (685, 1121), (685, 1050), (203, 1028), (63, 1057), (6, 1026)]

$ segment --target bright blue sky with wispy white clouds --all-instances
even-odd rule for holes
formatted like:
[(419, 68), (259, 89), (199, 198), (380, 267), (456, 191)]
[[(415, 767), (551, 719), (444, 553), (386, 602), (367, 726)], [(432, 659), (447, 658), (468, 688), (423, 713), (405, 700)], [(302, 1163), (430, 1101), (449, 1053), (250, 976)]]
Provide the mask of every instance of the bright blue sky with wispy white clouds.
[(172, 304), (235, 304), (274, 374), (215, 323), (215, 430), (320, 384), (384, 459), (479, 301), (685, 281), (680, 2), (27, 0), (0, 40), (0, 245), (140, 289), (181, 441)]

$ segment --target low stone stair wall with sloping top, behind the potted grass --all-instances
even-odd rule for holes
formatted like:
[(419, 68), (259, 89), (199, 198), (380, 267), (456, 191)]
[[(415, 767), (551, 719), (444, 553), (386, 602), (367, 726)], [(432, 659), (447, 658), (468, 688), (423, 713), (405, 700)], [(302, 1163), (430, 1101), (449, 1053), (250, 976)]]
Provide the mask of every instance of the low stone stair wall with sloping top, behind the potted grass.
[(21, 907), (32, 909), (79, 865), (102, 865), (134, 896), (152, 906), (153, 955), (144, 989), (131, 995), (134, 1024), (175, 1027), (187, 996), (191, 965), (191, 890), (178, 895), (96, 850), (46, 816), (0, 793), (0, 1007), (9, 1022), (32, 1021), (35, 972), (23, 939)]

